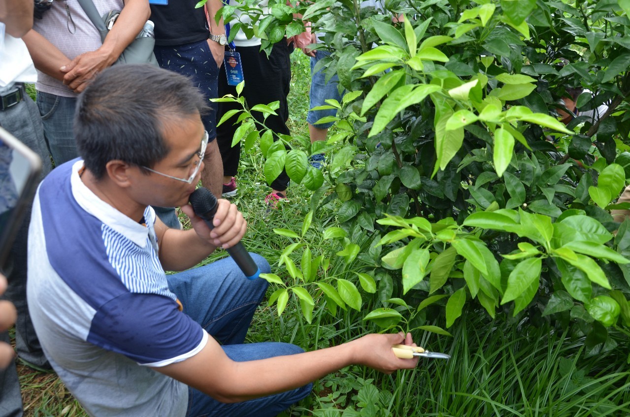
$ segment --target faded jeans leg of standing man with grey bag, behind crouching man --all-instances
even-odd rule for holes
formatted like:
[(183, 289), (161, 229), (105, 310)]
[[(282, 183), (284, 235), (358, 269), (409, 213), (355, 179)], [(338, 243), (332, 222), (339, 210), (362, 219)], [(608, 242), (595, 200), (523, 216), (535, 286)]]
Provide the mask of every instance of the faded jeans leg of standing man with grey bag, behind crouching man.
[(37, 92), (37, 106), (42, 117), (45, 139), (55, 166), (79, 156), (74, 140), (76, 98)]

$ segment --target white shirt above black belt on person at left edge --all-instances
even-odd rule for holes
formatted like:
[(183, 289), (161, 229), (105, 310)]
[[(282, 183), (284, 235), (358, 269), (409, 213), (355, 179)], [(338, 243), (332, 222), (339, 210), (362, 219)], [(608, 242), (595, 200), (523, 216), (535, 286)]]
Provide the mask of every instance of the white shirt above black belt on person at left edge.
[(35, 81), (37, 71), (26, 44), (20, 38), (5, 33), (5, 25), (0, 22), (0, 88)]

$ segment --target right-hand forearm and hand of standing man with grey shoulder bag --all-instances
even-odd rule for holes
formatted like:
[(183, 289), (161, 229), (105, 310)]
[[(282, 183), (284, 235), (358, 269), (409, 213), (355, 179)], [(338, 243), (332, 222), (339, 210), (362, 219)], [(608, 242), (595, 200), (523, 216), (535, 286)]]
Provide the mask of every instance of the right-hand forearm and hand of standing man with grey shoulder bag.
[(148, 0), (127, 0), (103, 45), (95, 51), (81, 54), (62, 67), (64, 84), (77, 93), (83, 91), (96, 74), (111, 66), (123, 50), (133, 42), (151, 15)]

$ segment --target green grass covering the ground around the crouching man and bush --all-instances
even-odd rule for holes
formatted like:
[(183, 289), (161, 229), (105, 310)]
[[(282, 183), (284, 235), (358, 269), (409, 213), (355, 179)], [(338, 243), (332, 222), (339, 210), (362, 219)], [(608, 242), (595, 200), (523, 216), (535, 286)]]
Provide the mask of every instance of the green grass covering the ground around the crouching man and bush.
[[(309, 91), (308, 59), (292, 55), (293, 81), (289, 96), (290, 129), (307, 137)], [(238, 196), (233, 198), (249, 222), (244, 244), (270, 261), (278, 275), (278, 259), (289, 241), (273, 234), (282, 227), (301, 230), (310, 210), (311, 193), (292, 184), (281, 210), (263, 219), (268, 186), (258, 152), (244, 154), (239, 168)], [(335, 225), (335, 205), (320, 208), (313, 231)], [(313, 235), (315, 237), (317, 233)], [(310, 234), (309, 234), (310, 236)], [(372, 237), (370, 236), (370, 239)], [(365, 239), (365, 236), (363, 237)], [(334, 253), (320, 239), (312, 249)], [(328, 246), (327, 246), (328, 245)], [(225, 256), (218, 251), (203, 263)], [(331, 256), (334, 258), (334, 256)], [(333, 260), (328, 273), (343, 265)], [(287, 278), (287, 277), (283, 277)], [(270, 293), (275, 288), (270, 288)], [(367, 297), (367, 295), (366, 295)], [(282, 317), (275, 307), (260, 307), (248, 340), (285, 341), (306, 350), (324, 348), (356, 338), (368, 331), (365, 312), (340, 311), (332, 316), (318, 300), (312, 324), (302, 317), (299, 304), (290, 299)], [(379, 307), (378, 301), (371, 307)], [(370, 307), (370, 308), (371, 308)], [(432, 323), (427, 323), (432, 324)], [(630, 372), (627, 349), (600, 356), (585, 355), (583, 338), (571, 338), (553, 328), (513, 323), (483, 311), (467, 311), (449, 329), (452, 338), (433, 333), (414, 334), (419, 345), (452, 355), (449, 361), (422, 359), (415, 370), (381, 375), (363, 367), (348, 367), (319, 380), (311, 397), (290, 414), (321, 417), (379, 416), (629, 416)], [(627, 343), (627, 342), (626, 342)], [(18, 367), (23, 387), (25, 416), (86, 416), (54, 374), (40, 374)]]

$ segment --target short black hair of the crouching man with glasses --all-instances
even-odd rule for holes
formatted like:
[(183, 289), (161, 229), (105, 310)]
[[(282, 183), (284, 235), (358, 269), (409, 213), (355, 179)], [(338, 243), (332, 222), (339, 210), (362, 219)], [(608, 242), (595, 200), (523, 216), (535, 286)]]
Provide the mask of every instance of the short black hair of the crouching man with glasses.
[(110, 67), (79, 95), (74, 115), (79, 155), (97, 180), (115, 159), (151, 168), (170, 151), (165, 123), (203, 115), (208, 108), (199, 89), (176, 72), (149, 64)]

